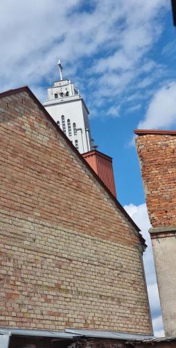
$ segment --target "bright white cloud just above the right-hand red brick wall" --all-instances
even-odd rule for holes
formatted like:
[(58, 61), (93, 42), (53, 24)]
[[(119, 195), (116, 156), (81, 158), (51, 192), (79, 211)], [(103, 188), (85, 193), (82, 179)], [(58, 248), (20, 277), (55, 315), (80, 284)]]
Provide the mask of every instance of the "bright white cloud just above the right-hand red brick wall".
[(176, 125), (176, 81), (160, 88), (152, 98), (139, 129), (168, 128)]

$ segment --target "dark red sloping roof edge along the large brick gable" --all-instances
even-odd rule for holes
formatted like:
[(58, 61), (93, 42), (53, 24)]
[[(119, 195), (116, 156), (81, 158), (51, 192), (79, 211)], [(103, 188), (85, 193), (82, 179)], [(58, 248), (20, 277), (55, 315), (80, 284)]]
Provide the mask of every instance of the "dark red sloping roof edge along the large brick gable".
[[(71, 143), (71, 141), (67, 138), (67, 135), (64, 134), (64, 132), (62, 132), (62, 129), (60, 129), (60, 127), (57, 125), (57, 123), (55, 122), (55, 120), (53, 120), (53, 118), (51, 117), (51, 115), (48, 113), (48, 111), (46, 111), (46, 109), (44, 108), (44, 106), (39, 102), (39, 100), (37, 99), (37, 97), (35, 97), (35, 95), (33, 94), (32, 90), (30, 90), (30, 88), (28, 86), (23, 86), (23, 87), (19, 87), (19, 88), (15, 88), (15, 89), (10, 89), (10, 90), (6, 90), (6, 92), (2, 92), (0, 93), (0, 98), (1, 97), (7, 97), (8, 95), (12, 95), (12, 94), (16, 94), (16, 93), (20, 93), (20, 92), (27, 92), (30, 97), (33, 99), (33, 101), (37, 104), (37, 106), (39, 106), (39, 109), (41, 109), (43, 111), (43, 113), (45, 114), (46, 118), (48, 118), (50, 120), (50, 122), (54, 125), (54, 127), (58, 130), (58, 132), (62, 135), (62, 137), (64, 138), (64, 140), (67, 142), (67, 144), (71, 147), (71, 149), (76, 153), (76, 155), (80, 158), (80, 160), (83, 162), (83, 164), (85, 164), (85, 166), (89, 169), (89, 171), (92, 173), (92, 175), (94, 175), (94, 177), (96, 178), (96, 180), (99, 182), (99, 184), (103, 187), (103, 189), (105, 189), (105, 191), (109, 194), (110, 198), (112, 198), (112, 200), (114, 201), (114, 203), (116, 204), (116, 207), (118, 207), (118, 209), (121, 210), (121, 212), (125, 215), (125, 217), (127, 218), (128, 221), (130, 221), (130, 223), (132, 223), (132, 226), (135, 228), (135, 230), (137, 230), (137, 232), (140, 232), (140, 228), (137, 226), (136, 223), (134, 223), (134, 221), (132, 220), (132, 218), (130, 217), (129, 214), (127, 214), (126, 210), (123, 208), (123, 206), (121, 205), (121, 203), (118, 202), (118, 200), (113, 196), (113, 194), (109, 191), (109, 189), (107, 189), (107, 187), (105, 186), (104, 182), (102, 180), (100, 180), (100, 177), (98, 177), (98, 175), (94, 172), (94, 170), (91, 168), (91, 166), (89, 166), (89, 164), (87, 163), (87, 161), (82, 157), (82, 155), (80, 154), (80, 152), (78, 152), (78, 150), (76, 150), (75, 146)], [(141, 242), (143, 244), (143, 246), (146, 246), (146, 240), (143, 238), (143, 236), (141, 235), (141, 233), (139, 233), (139, 238), (141, 239)]]

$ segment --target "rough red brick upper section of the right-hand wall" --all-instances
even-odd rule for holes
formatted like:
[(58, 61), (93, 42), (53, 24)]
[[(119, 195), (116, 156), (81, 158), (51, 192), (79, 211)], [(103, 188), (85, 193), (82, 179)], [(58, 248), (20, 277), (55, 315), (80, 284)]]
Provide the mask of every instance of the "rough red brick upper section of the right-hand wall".
[(152, 227), (176, 226), (176, 136), (138, 136), (137, 151)]

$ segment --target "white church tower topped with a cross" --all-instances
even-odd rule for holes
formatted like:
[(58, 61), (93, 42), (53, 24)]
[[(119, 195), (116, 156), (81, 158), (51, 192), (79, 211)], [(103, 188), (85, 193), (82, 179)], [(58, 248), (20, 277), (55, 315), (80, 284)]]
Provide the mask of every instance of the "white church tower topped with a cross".
[(49, 100), (43, 105), (82, 154), (95, 148), (89, 127), (89, 110), (73, 82), (62, 79), (60, 60), (58, 66), (60, 80), (48, 88)]

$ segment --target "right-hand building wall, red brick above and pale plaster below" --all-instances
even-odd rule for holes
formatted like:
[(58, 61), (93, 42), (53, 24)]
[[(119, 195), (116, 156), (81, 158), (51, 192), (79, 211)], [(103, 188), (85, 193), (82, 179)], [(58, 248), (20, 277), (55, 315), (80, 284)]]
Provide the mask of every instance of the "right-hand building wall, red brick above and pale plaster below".
[(167, 336), (176, 335), (176, 131), (136, 130)]

